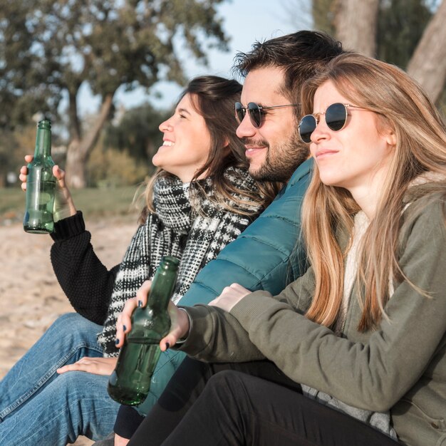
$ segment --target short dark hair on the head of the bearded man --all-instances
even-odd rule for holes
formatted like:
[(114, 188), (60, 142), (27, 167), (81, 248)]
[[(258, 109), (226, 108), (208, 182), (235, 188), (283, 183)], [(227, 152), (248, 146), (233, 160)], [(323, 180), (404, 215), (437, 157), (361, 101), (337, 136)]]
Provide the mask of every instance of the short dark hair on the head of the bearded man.
[(285, 83), (281, 93), (299, 102), (304, 81), (344, 52), (341, 42), (326, 33), (298, 31), (264, 42), (256, 41), (249, 53), (237, 53), (233, 71), (245, 77), (257, 68), (283, 68)]

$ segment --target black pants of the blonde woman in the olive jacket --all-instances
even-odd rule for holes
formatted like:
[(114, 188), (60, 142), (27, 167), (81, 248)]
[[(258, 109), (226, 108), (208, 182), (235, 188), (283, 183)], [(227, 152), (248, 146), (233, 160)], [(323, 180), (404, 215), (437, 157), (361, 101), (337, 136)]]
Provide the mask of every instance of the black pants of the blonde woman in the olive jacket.
[(128, 446), (395, 446), (387, 435), (301, 395), (267, 361), (186, 358)]

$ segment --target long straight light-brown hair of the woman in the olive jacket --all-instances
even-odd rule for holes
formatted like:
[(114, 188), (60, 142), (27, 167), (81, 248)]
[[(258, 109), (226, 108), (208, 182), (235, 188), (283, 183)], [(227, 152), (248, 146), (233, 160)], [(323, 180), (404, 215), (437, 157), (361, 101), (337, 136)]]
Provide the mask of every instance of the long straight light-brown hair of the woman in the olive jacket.
[[(396, 136), (389, 175), (358, 256), (363, 308), (358, 329), (367, 331), (385, 316), (389, 278), (408, 280), (398, 266), (397, 248), (403, 197), (410, 182), (423, 172), (435, 172), (437, 181), (422, 187), (419, 194), (440, 192), (445, 197), (446, 131), (422, 88), (388, 63), (354, 53), (338, 56), (328, 63), (326, 71), (305, 83), (301, 93), (303, 114), (313, 113), (314, 93), (326, 81), (331, 81), (351, 103), (375, 112), (378, 131), (390, 128)], [(349, 248), (339, 246), (336, 231), (346, 230), (351, 236), (353, 218), (359, 210), (350, 192), (321, 182), (315, 165), (302, 208), (304, 240), (316, 276), (316, 293), (306, 317), (325, 326), (332, 326), (339, 314), (343, 264)], [(416, 284), (410, 284), (427, 296)]]

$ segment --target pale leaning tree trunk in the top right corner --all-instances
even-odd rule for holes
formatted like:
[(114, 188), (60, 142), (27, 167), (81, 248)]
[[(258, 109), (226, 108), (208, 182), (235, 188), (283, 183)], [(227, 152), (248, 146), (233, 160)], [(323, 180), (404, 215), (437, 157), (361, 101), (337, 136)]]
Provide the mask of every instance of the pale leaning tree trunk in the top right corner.
[(422, 34), (408, 64), (408, 73), (436, 102), (446, 81), (446, 1), (443, 0), (435, 16)]

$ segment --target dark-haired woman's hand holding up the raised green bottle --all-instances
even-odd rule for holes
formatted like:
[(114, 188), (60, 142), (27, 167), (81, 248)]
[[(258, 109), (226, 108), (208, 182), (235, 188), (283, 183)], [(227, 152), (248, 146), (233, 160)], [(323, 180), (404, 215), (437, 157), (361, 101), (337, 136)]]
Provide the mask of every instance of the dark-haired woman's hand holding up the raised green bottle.
[[(29, 163), (33, 158), (33, 155), (26, 155), (25, 161)], [(73, 197), (71, 197), (71, 192), (66, 185), (65, 171), (58, 167), (58, 165), (55, 165), (53, 166), (53, 175), (57, 180), (53, 216), (54, 221), (58, 222), (63, 218), (76, 214), (76, 207), (73, 202)], [(24, 191), (26, 190), (26, 177), (28, 177), (28, 167), (22, 166), (19, 179), (21, 181), (21, 188)]]

